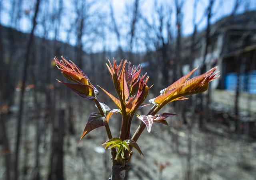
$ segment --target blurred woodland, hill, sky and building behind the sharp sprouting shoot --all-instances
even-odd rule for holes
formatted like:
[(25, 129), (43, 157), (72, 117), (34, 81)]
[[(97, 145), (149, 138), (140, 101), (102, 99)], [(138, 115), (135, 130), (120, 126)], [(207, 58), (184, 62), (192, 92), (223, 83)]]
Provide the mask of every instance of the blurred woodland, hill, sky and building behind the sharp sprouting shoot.
[(104, 127), (79, 140), (94, 103), (56, 82), (62, 55), (112, 94), (107, 59), (140, 64), (154, 84), (146, 103), (218, 65), (207, 92), (162, 110), (182, 116), (142, 133), (126, 179), (256, 179), (255, 0), (1, 0), (0, 24), (0, 179), (110, 177)]

